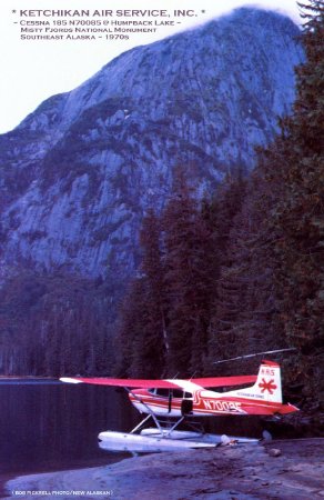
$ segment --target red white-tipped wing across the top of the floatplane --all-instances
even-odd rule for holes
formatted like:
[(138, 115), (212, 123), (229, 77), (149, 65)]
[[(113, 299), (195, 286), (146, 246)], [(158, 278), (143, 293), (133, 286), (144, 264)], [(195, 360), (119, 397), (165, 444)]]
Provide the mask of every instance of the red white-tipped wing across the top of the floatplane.
[(95, 386), (112, 386), (112, 387), (129, 387), (136, 389), (179, 389), (183, 388), (183, 382), (191, 382), (192, 384), (200, 386), (201, 388), (207, 387), (229, 387), (229, 386), (242, 386), (245, 383), (253, 383), (256, 381), (256, 376), (239, 376), (239, 377), (210, 377), (202, 379), (190, 380), (149, 380), (149, 379), (112, 379), (105, 377), (61, 377), (62, 382), (69, 383), (92, 383)]

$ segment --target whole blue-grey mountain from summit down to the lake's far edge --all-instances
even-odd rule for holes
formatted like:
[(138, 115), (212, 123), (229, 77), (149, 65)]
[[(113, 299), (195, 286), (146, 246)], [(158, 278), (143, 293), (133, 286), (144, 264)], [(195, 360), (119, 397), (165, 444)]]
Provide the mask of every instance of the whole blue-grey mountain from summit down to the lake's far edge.
[(132, 49), (0, 136), (0, 373), (111, 373), (149, 207), (249, 172), (295, 97), (298, 28), (244, 8)]

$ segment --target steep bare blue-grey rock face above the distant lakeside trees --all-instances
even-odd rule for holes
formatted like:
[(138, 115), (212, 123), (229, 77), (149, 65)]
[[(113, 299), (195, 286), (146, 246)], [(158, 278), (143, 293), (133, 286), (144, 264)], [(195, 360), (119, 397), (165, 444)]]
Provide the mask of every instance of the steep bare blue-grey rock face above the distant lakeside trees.
[(176, 164), (203, 191), (254, 164), (294, 99), (287, 18), (240, 9), (121, 54), (0, 137), (1, 259), (119, 281)]

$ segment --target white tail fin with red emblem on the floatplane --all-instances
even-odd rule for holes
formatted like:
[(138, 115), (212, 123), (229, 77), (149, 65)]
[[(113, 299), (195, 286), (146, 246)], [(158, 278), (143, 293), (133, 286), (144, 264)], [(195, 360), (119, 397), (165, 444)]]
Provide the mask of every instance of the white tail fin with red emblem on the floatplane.
[(281, 369), (273, 361), (262, 361), (254, 386), (240, 390), (240, 396), (282, 403)]

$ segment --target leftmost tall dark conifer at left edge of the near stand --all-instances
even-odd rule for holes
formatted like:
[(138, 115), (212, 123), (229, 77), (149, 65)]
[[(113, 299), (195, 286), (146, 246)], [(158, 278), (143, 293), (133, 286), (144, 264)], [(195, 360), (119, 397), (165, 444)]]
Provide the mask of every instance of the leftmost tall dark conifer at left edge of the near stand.
[(139, 276), (121, 310), (117, 371), (121, 376), (159, 378), (169, 349), (166, 299), (161, 257), (161, 228), (152, 209), (143, 219)]

